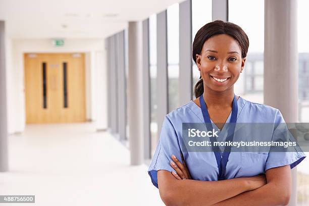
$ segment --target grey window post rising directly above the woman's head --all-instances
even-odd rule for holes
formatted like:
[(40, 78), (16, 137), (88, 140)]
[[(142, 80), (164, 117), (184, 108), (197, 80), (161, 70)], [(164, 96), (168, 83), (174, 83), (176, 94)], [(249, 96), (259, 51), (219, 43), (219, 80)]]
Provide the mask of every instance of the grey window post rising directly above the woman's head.
[(229, 21), (229, 2), (228, 0), (213, 0), (212, 4), (213, 21)]

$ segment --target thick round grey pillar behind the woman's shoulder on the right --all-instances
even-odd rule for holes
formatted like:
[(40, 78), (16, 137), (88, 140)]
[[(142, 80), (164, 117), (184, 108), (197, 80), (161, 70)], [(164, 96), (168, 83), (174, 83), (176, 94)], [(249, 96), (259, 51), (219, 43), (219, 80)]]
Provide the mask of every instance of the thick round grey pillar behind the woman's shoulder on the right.
[[(286, 122), (297, 122), (297, 1), (265, 0), (264, 35), (264, 102), (278, 108)], [(296, 205), (296, 168), (289, 205)]]

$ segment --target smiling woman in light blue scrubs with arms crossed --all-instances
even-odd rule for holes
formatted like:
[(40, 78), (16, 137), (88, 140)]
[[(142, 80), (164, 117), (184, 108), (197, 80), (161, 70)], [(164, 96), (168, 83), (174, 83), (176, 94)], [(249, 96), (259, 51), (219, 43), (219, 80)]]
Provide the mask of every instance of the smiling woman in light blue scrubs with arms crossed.
[[(182, 123), (207, 123), (207, 130), (225, 123), (284, 123), (280, 111), (234, 94), (248, 51), (245, 32), (230, 22), (214, 21), (195, 35), (192, 57), (201, 78), (196, 99), (165, 116), (160, 140), (148, 168), (153, 185), (167, 205), (286, 205), (291, 169), (304, 158), (292, 152), (213, 152), (182, 150)], [(232, 140), (235, 127), (229, 127)], [(272, 131), (270, 141), (276, 128)], [(227, 138), (227, 137), (226, 137)], [(278, 137), (280, 138), (280, 137)], [(211, 139), (214, 141), (214, 139)], [(259, 141), (256, 139), (256, 141)]]

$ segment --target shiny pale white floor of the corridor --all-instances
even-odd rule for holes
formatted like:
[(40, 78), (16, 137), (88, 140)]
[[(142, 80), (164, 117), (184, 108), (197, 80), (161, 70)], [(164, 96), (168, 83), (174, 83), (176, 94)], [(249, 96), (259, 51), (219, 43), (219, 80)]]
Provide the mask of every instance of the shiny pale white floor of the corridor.
[(35, 195), (44, 206), (164, 205), (147, 166), (129, 166), (129, 150), (90, 123), (27, 125), (9, 136), (9, 159), (1, 195)]

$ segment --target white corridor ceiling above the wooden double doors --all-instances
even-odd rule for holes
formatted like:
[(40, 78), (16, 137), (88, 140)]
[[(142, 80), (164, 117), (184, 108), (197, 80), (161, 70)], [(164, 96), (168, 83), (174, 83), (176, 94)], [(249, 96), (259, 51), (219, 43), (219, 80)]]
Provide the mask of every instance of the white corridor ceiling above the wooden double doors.
[[(0, 0), (10, 38), (104, 38), (183, 0)], [(115, 16), (116, 15), (116, 16)]]

